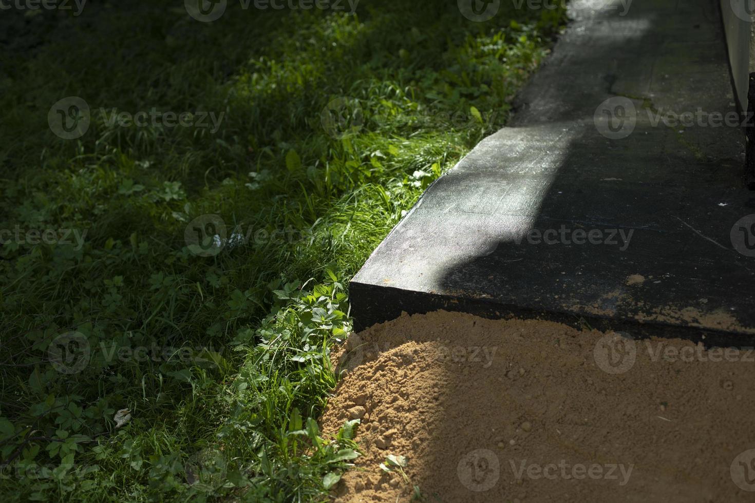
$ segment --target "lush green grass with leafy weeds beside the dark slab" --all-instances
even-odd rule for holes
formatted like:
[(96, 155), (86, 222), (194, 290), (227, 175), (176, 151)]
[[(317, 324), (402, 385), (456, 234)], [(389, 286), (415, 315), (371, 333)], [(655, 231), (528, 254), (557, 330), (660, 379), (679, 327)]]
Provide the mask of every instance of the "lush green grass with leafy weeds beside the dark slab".
[[(0, 248), (0, 499), (325, 499), (358, 455), (356, 424), (316, 424), (347, 283), (507, 121), (563, 22), (501, 5), (486, 23), (451, 0), (356, 16), (230, 2), (214, 23), (181, 2), (4, 13), (0, 230), (84, 239)], [(48, 126), (69, 96), (91, 109), (75, 140)], [(343, 97), (334, 130), (322, 111)], [(108, 122), (153, 107), (223, 118)]]

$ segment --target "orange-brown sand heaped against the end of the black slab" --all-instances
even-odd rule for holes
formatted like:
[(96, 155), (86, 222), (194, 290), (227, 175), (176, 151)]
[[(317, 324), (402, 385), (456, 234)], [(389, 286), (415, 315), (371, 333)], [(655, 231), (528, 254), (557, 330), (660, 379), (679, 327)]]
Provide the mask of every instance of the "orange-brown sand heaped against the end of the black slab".
[(753, 501), (755, 352), (626, 335), (439, 311), (352, 336), (322, 425), (360, 418), (364, 455), (334, 498)]

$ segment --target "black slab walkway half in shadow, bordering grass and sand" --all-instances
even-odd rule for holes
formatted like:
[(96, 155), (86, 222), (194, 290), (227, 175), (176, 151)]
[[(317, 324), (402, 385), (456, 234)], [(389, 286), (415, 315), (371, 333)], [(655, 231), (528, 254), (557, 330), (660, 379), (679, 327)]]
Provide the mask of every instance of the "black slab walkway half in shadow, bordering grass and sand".
[(755, 336), (744, 133), (712, 125), (736, 113), (718, 3), (572, 11), (510, 127), (430, 186), (353, 279), (357, 329), (446, 308)]

